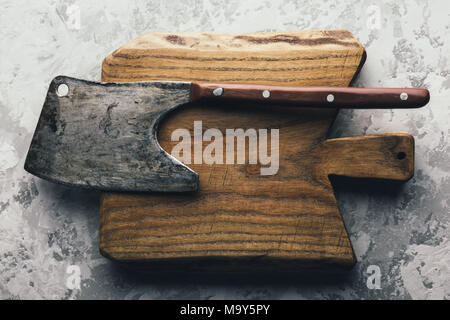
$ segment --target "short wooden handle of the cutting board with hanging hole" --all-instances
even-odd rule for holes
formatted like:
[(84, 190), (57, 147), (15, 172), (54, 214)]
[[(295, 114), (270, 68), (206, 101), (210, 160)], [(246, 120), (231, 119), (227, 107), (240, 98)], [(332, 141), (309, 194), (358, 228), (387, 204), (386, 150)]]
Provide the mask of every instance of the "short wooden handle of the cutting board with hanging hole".
[(407, 181), (414, 175), (414, 138), (403, 132), (328, 139), (319, 145), (328, 175)]

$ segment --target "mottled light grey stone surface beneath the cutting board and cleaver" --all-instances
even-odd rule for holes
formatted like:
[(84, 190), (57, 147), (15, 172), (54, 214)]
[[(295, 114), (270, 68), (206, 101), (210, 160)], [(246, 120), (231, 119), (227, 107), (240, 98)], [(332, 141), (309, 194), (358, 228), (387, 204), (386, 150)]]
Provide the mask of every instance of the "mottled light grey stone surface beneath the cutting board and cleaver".
[[(0, 0), (0, 298), (449, 299), (449, 27), (447, 0)], [(408, 183), (337, 182), (359, 260), (348, 276), (131, 275), (98, 252), (98, 193), (23, 170), (54, 76), (98, 80), (101, 60), (146, 31), (302, 29), (348, 29), (359, 38), (368, 60), (356, 85), (426, 87), (432, 95), (419, 110), (338, 117), (333, 136), (408, 131), (416, 138), (416, 175)], [(69, 265), (81, 268), (80, 290), (66, 287)], [(381, 268), (379, 290), (366, 286), (369, 265)]]

